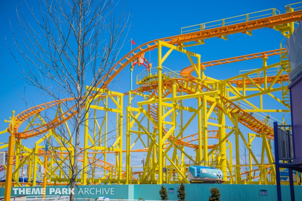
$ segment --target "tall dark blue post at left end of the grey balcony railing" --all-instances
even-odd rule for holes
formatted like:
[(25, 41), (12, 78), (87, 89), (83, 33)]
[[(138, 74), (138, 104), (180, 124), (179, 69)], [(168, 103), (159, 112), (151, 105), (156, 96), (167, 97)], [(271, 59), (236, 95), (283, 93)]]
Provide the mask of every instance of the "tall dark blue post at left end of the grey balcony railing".
[(274, 122), (274, 145), (275, 145), (277, 200), (282, 201), (282, 198), (281, 198), (281, 184), (280, 184), (280, 169), (279, 169), (278, 123), (277, 122)]

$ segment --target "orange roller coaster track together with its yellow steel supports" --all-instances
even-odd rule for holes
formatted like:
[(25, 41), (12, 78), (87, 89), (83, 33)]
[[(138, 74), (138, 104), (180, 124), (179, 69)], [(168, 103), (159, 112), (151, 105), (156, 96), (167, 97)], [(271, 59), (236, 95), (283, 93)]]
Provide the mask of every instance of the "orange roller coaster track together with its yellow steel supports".
[[(290, 71), (290, 68), (288, 67), (289, 70), (285, 70), (284, 68), (284, 65), (289, 65), (288, 60), (286, 60), (285, 58), (287, 55), (286, 49), (280, 48), (277, 50), (248, 54), (244, 56), (236, 56), (227, 59), (200, 62), (200, 56), (198, 57), (198, 54), (194, 53), (190, 55), (191, 52), (185, 50), (185, 48), (188, 47), (185, 45), (185, 43), (197, 44), (200, 40), (205, 40), (213, 37), (221, 38), (226, 37), (226, 35), (246, 33), (251, 30), (265, 27), (278, 29), (278, 25), (284, 25), (292, 28), (294, 26), (293, 22), (299, 21), (301, 19), (302, 10), (238, 24), (200, 30), (172, 37), (164, 37), (157, 40), (152, 40), (148, 43), (144, 43), (143, 45), (140, 45), (137, 48), (133, 49), (126, 56), (122, 57), (122, 59), (120, 59), (120, 61), (118, 61), (117, 64), (115, 64), (110, 69), (109, 73), (105, 75), (101, 80), (99, 80), (97, 86), (99, 86), (101, 90), (103, 90), (103, 92), (98, 93), (92, 91), (91, 94), (88, 94), (87, 101), (92, 102), (93, 100), (95, 102), (89, 106), (91, 107), (90, 109), (93, 109), (94, 111), (98, 109), (104, 110), (106, 117), (104, 117), (103, 123), (98, 123), (98, 120), (96, 120), (97, 118), (94, 117), (94, 128), (90, 131), (88, 129), (85, 129), (84, 131), (84, 147), (79, 149), (81, 155), (79, 155), (78, 158), (78, 161), (82, 163), (82, 167), (84, 168), (80, 173), (81, 179), (77, 179), (77, 182), (79, 182), (79, 184), (89, 184), (90, 182), (126, 184), (163, 183), (165, 178), (163, 177), (161, 168), (167, 167), (169, 172), (167, 173), (168, 180), (165, 181), (166, 183), (188, 183), (189, 181), (185, 175), (185, 172), (188, 168), (188, 163), (185, 161), (185, 159), (195, 160), (198, 163), (204, 159), (206, 162), (217, 162), (217, 167), (221, 168), (224, 174), (227, 174), (228, 171), (228, 173), (232, 175), (227, 177), (229, 180), (226, 182), (243, 183), (244, 180), (242, 178), (244, 177), (244, 175), (253, 173), (252, 177), (246, 178), (248, 182), (253, 183), (253, 179), (260, 178), (260, 183), (270, 182), (270, 184), (273, 184), (275, 182), (275, 167), (273, 165), (274, 159), (272, 157), (270, 143), (271, 140), (274, 140), (274, 132), (273, 127), (270, 125), (270, 118), (272, 117), (266, 115), (264, 112), (280, 112), (280, 110), (265, 111), (265, 109), (263, 109), (262, 96), (269, 95), (281, 104), (284, 104), (284, 102), (287, 101), (288, 91), (286, 86), (289, 83), (288, 72)], [(173, 71), (175, 76), (172, 78), (169, 76), (160, 76), (162, 75), (161, 73), (163, 70), (161, 63), (164, 61), (161, 55), (162, 47), (170, 48), (168, 53), (166, 53), (166, 55), (164, 56), (164, 59), (169, 56), (172, 50), (177, 50), (188, 55), (191, 65), (183, 68), (179, 73)], [(155, 48), (159, 49), (159, 67), (157, 68), (158, 73), (154, 75), (151, 73), (151, 71), (147, 72), (148, 75), (150, 74), (150, 76), (153, 76), (151, 81), (142, 83), (140, 82), (139, 88), (126, 92), (124, 94), (107, 93), (108, 85), (121, 72), (122, 69), (124, 69), (126, 66), (129, 66), (130, 62), (139, 58), (147, 51)], [(278, 62), (276, 65), (272, 64), (271, 66), (267, 66), (266, 60), (268, 59), (268, 57), (276, 55), (279, 55), (281, 57), (281, 62)], [(191, 59), (191, 56), (196, 56), (198, 62), (194, 63)], [(263, 65), (259, 69), (251, 70), (250, 74), (248, 70), (245, 71), (244, 74), (240, 73), (240, 75), (226, 80), (216, 80), (214, 78), (204, 76), (204, 70), (207, 67), (232, 64), (234, 62), (247, 61), (251, 59), (263, 59), (264, 61)], [(147, 61), (146, 63), (149, 65)], [(133, 68), (133, 66), (131, 67)], [(274, 73), (272, 73), (273, 71)], [(268, 74), (268, 72), (270, 72), (270, 74)], [(196, 75), (194, 75), (194, 73)], [(253, 73), (256, 73), (257, 75), (252, 75)], [(268, 84), (270, 85), (268, 86)], [(281, 92), (279, 93), (282, 95), (281, 98), (278, 98), (277, 96), (275, 96), (275, 94), (273, 94), (273, 92), (276, 91)], [(248, 95), (246, 93), (248, 93)], [(125, 114), (123, 112), (123, 95), (129, 96), (129, 106), (127, 107), (127, 113), (125, 115), (125, 117), (127, 118), (127, 123), (125, 123), (125, 127), (127, 127), (126, 133), (123, 133), (123, 126), (121, 126), (124, 125), (123, 117)], [(131, 104), (131, 100), (134, 96), (141, 96), (144, 98), (144, 101), (138, 102), (139, 107), (137, 108), (134, 107), (133, 104)], [(97, 102), (104, 102), (104, 98), (108, 97), (111, 98), (113, 103), (117, 106), (117, 109), (108, 107), (107, 103), (105, 107), (98, 105)], [(247, 100), (250, 97), (260, 97), (260, 107), (256, 106), (256, 104), (250, 101), (250, 99)], [(114, 98), (116, 98), (116, 100)], [(190, 99), (189, 107), (184, 106), (185, 104), (183, 104), (182, 100), (185, 99)], [(27, 164), (34, 164), (34, 170), (31, 169), (30, 172), (32, 172), (31, 175), (33, 175), (33, 178), (36, 178), (37, 164), (43, 164), (43, 161), (39, 157), (44, 157), (44, 163), (47, 167), (47, 165), (49, 165), (48, 160), (52, 160), (51, 165), (53, 165), (53, 158), (59, 159), (61, 157), (67, 160), (66, 158), (69, 157), (68, 154), (74, 154), (74, 150), (72, 150), (70, 143), (68, 144), (68, 146), (56, 147), (56, 150), (53, 151), (53, 155), (55, 155), (53, 157), (51, 155), (47, 155), (47, 152), (45, 152), (43, 145), (39, 145), (39, 143), (42, 143), (42, 140), (40, 140), (39, 143), (36, 143), (36, 147), (34, 149), (28, 149), (21, 144), (21, 139), (27, 139), (42, 134), (47, 135), (48, 133), (52, 133), (50, 131), (55, 131), (59, 125), (64, 125), (64, 123), (67, 124), (69, 120), (77, 114), (75, 105), (70, 107), (67, 111), (58, 112), (53, 120), (50, 120), (49, 122), (36, 124), (34, 124), (33, 122), (36, 121), (36, 118), (37, 121), (39, 121), (39, 115), (43, 111), (55, 107), (59, 108), (59, 106), (62, 104), (69, 105), (73, 100), (73, 98), (68, 98), (40, 104), (38, 106), (27, 109), (17, 116), (13, 116), (11, 118), (11, 123), (9, 124), (7, 131), (11, 134), (11, 136), (15, 136), (15, 138), (17, 139), (17, 141), (13, 141), (14, 143), (16, 143), (15, 150), (18, 150), (18, 152), (22, 150), (20, 151), (19, 155), (17, 154), (15, 158), (11, 160), (13, 161), (15, 166), (20, 166), (20, 164), (24, 165), (23, 161), (25, 157), (25, 159), (29, 161)], [(284, 105), (289, 108), (288, 105)], [(89, 114), (89, 108), (86, 109), (88, 110)], [(182, 111), (191, 113), (192, 117), (190, 119), (183, 118)], [(120, 136), (118, 136), (117, 134), (118, 137), (113, 143), (112, 147), (108, 147), (106, 144), (104, 146), (88, 145), (88, 143), (92, 141), (97, 141), (97, 135), (100, 136), (100, 139), (98, 141), (100, 144), (103, 143), (102, 140), (107, 140), (106, 138), (101, 137), (102, 134), (104, 134), (103, 136), (106, 136), (108, 133), (107, 127), (106, 129), (104, 129), (105, 131), (102, 130), (103, 125), (107, 126), (107, 112), (117, 113), (117, 119), (121, 120), (120, 122), (117, 122), (117, 133), (119, 133)], [(281, 110), (281, 112), (288, 112), (288, 110)], [(92, 112), (90, 111), (90, 113)], [(215, 115), (217, 116), (217, 118), (213, 117)], [(181, 116), (181, 123), (179, 123), (179, 120), (176, 118), (179, 116)], [(196, 133), (195, 131), (188, 128), (188, 125), (195, 117), (196, 119), (198, 119), (198, 125), (191, 126), (198, 128), (198, 132)], [(230, 120), (231, 124), (233, 124), (234, 126), (227, 126), (225, 117), (227, 117)], [(170, 118), (171, 120), (165, 120), (165, 118)], [(208, 121), (209, 119), (211, 120)], [(147, 121), (147, 123), (143, 120)], [(21, 125), (23, 124), (24, 126), (26, 122), (28, 122), (26, 129), (24, 129), (24, 131), (20, 131)], [(146, 123), (147, 126), (144, 125), (144, 123)], [(243, 126), (253, 132), (248, 133), (248, 140), (246, 140), (242, 135), (238, 123), (241, 123)], [(285, 124), (286, 121), (283, 121), (282, 123)], [(89, 127), (89, 124), (89, 121), (85, 120), (85, 126)], [(177, 126), (179, 127), (178, 130), (176, 129)], [(211, 126), (211, 128), (209, 126)], [(212, 129), (212, 126), (218, 129)], [(134, 130), (136, 128), (137, 130)], [(207, 130), (209, 128), (211, 130)], [(184, 134), (185, 129), (186, 134)], [(231, 131), (226, 132), (226, 129), (230, 129)], [(96, 130), (99, 131), (98, 134), (96, 134)], [(93, 133), (93, 136), (90, 136), (91, 133)], [(232, 133), (235, 133), (236, 164), (238, 165), (233, 165), (232, 162), (232, 145), (229, 142), (229, 136)], [(126, 150), (122, 145), (122, 134), (126, 134)], [(133, 136), (137, 136), (137, 139), (133, 144), (131, 144), (131, 135), (132, 141)], [(141, 138), (142, 135), (147, 136), (147, 143), (143, 142), (143, 139)], [(250, 171), (245, 170), (244, 172), (240, 172), (240, 137), (242, 138), (243, 144), (249, 151)], [(263, 154), (261, 158), (262, 161), (260, 162), (258, 162), (251, 149), (252, 141), (255, 137), (262, 139)], [(42, 138), (46, 139), (46, 136)], [(58, 139), (57, 136), (55, 138)], [(209, 145), (209, 143), (207, 143), (207, 139), (215, 139), (216, 141), (218, 140), (218, 143), (210, 143)], [(62, 139), (61, 141), (63, 140), (64, 139)], [(137, 142), (140, 141), (142, 142), (144, 148), (133, 147)], [(229, 143), (228, 147), (226, 146), (226, 142)], [(12, 142), (10, 141), (10, 143)], [(6, 145), (3, 145), (2, 147), (5, 146)], [(208, 149), (211, 150), (208, 151)], [(69, 152), (65, 152), (66, 150), (68, 150)], [(186, 152), (187, 150), (193, 150), (193, 152), (196, 152), (196, 156), (192, 156), (191, 152), (190, 154), (188, 154), (189, 152)], [(226, 150), (228, 150), (229, 154), (227, 154)], [(142, 171), (132, 171), (132, 168), (130, 171), (130, 153), (134, 155), (136, 152), (144, 152), (147, 155), (146, 162), (144, 161), (144, 167), (141, 168)], [(126, 153), (126, 167), (122, 167), (122, 153)], [(168, 153), (172, 153), (172, 157), (168, 156)], [(179, 153), (181, 154), (180, 157), (178, 156)], [(267, 164), (266, 162), (264, 162), (264, 153), (268, 158)], [(32, 157), (27, 157), (30, 154), (33, 154)], [(96, 157), (97, 154), (102, 154), (101, 157), (104, 156), (104, 160), (101, 160), (101, 157)], [(107, 162), (106, 157), (108, 154), (114, 154), (116, 156), (115, 165), (112, 161), (110, 163)], [(13, 154), (11, 153), (11, 155)], [(165, 160), (165, 162), (163, 162), (164, 160), (162, 160), (164, 158), (167, 159)], [(39, 162), (37, 162), (38, 160)], [(257, 166), (258, 168), (253, 169), (253, 165)], [(86, 166), (103, 168), (104, 174), (102, 175), (102, 177), (97, 178), (95, 173), (92, 173), (92, 176), (90, 177), (90, 175), (87, 175), (88, 171)], [(13, 166), (11, 164), (8, 165), (8, 168), (12, 167)], [(55, 171), (59, 168), (59, 165), (57, 167), (54, 167), (52, 170), (50, 170), (52, 171), (51, 174), (46, 175), (46, 177), (50, 179), (50, 175), (55, 174)], [(1, 170), (3, 170), (3, 168)], [(256, 175), (256, 171), (257, 174), (259, 171), (258, 175)], [(58, 176), (56, 176), (51, 178), (51, 180), (53, 182), (58, 182), (58, 185), (68, 183), (66, 176), (67, 174), (60, 172), (60, 175), (61, 174), (65, 174), (61, 176), (64, 178), (58, 178)], [(272, 178), (270, 181), (267, 180), (268, 176)], [(14, 173), (14, 178), (17, 177), (19, 177), (19, 174)], [(7, 178), (11, 181), (10, 175), (8, 175)], [(27, 184), (37, 185), (35, 181), (32, 184)], [(19, 185), (16, 180), (14, 185)], [(49, 183), (49, 185), (53, 184)]]

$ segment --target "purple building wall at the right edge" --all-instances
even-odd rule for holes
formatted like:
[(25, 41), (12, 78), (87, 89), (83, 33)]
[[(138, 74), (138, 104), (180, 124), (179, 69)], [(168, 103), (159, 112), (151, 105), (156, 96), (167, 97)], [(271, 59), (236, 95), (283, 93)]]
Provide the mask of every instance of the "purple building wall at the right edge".
[(302, 75), (290, 85), (294, 163), (302, 164)]

